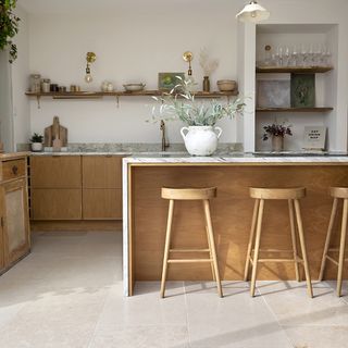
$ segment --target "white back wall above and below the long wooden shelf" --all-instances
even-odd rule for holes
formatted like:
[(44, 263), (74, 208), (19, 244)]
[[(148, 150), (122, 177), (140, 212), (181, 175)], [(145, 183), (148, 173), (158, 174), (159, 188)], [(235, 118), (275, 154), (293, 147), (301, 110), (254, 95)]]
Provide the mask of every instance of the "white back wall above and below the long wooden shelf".
[[(221, 78), (237, 78), (235, 8), (229, 1), (207, 3), (200, 9), (185, 2), (183, 7), (150, 7), (136, 11), (125, 7), (95, 15), (45, 14), (30, 16), (30, 72), (40, 73), (52, 82), (70, 86), (78, 84), (84, 90), (99, 90), (102, 80), (112, 80), (117, 89), (128, 82), (144, 82), (148, 89), (157, 89), (159, 72), (185, 72), (182, 59), (186, 50), (196, 55), (194, 77), (201, 89), (202, 71), (198, 54), (207, 47), (220, 66), (211, 76), (212, 89)], [(94, 83), (84, 83), (85, 55), (97, 54), (91, 66)], [(69, 140), (160, 142), (159, 124), (148, 124), (151, 98), (121, 98), (120, 108), (113, 98), (102, 100), (30, 101), (32, 132), (44, 127), (59, 115), (69, 128)], [(222, 141), (235, 141), (235, 121), (223, 121)], [(167, 124), (171, 142), (182, 142), (177, 132), (181, 124)]]

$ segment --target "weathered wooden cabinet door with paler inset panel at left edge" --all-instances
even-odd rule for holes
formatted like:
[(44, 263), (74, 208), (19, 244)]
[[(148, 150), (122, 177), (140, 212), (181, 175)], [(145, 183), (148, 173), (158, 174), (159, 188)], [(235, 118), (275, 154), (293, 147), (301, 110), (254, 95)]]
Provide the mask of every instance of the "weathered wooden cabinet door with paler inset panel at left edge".
[(26, 181), (1, 185), (3, 200), (3, 239), (5, 265), (29, 252), (29, 219)]

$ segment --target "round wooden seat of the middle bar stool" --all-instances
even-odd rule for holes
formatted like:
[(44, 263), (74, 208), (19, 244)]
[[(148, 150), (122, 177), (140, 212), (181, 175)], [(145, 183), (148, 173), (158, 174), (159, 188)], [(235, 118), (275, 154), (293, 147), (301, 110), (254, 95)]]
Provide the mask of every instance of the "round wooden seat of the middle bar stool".
[(263, 188), (250, 187), (250, 197), (256, 199), (300, 199), (306, 196), (304, 187)]

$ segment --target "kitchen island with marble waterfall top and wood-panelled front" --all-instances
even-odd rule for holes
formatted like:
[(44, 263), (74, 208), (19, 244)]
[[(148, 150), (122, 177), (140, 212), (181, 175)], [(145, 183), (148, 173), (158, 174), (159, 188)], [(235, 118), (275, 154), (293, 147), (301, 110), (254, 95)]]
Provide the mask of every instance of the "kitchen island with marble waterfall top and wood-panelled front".
[[(213, 228), (222, 279), (241, 281), (251, 225), (250, 186), (304, 186), (301, 212), (312, 278), (318, 278), (332, 209), (330, 186), (348, 186), (347, 156), (274, 156), (232, 153), (195, 158), (185, 154), (139, 154), (123, 160), (124, 295), (135, 282), (159, 281), (164, 249), (167, 201), (161, 187), (217, 187), (211, 201)], [(266, 248), (290, 249), (287, 201), (265, 206), (263, 241)], [(337, 225), (335, 229), (337, 229)], [(173, 247), (204, 248), (200, 204), (175, 207)], [(261, 246), (262, 248), (262, 246)], [(266, 257), (269, 254), (265, 253)], [(302, 271), (302, 270), (301, 270)], [(336, 269), (327, 266), (326, 277)], [(171, 265), (169, 279), (211, 279), (209, 264)], [(293, 263), (265, 263), (259, 279), (295, 279)]]

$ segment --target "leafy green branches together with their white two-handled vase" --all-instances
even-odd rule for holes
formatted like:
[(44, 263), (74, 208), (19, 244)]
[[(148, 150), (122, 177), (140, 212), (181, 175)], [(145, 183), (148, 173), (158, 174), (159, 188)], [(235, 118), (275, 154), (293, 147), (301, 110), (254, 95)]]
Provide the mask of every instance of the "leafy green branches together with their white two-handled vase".
[(160, 103), (159, 108), (152, 109), (152, 120), (182, 121), (186, 125), (181, 133), (187, 151), (192, 156), (211, 156), (216, 150), (217, 139), (222, 134), (222, 129), (215, 126), (216, 122), (223, 117), (232, 119), (244, 110), (245, 103), (240, 98), (225, 104), (216, 100), (209, 103), (197, 102), (191, 92), (195, 83), (176, 77), (179, 84), (170, 92), (152, 97)]

